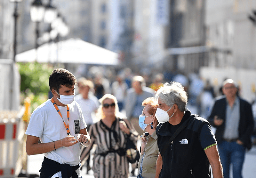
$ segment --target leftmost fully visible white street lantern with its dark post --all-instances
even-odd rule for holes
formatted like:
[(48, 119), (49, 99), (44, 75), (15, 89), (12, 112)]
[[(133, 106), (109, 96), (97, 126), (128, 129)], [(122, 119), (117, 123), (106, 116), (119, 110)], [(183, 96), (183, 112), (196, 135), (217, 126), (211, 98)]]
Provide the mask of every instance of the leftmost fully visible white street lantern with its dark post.
[(34, 0), (30, 7), (30, 18), (32, 22), (36, 22), (36, 49), (38, 48), (37, 40), (39, 38), (39, 23), (44, 18), (44, 6), (41, 0)]

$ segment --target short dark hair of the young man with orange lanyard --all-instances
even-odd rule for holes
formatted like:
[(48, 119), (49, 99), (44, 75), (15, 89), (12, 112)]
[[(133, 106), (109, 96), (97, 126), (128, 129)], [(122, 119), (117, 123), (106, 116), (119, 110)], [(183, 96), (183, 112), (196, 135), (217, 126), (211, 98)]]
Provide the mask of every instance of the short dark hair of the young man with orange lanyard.
[(49, 77), (50, 89), (55, 89), (59, 92), (60, 85), (64, 85), (68, 88), (77, 84), (76, 77), (64, 68), (54, 69)]

